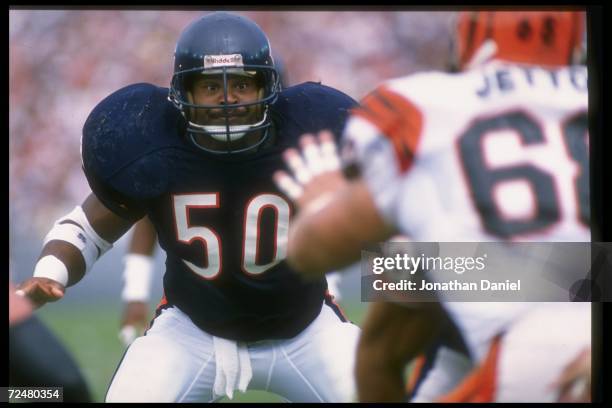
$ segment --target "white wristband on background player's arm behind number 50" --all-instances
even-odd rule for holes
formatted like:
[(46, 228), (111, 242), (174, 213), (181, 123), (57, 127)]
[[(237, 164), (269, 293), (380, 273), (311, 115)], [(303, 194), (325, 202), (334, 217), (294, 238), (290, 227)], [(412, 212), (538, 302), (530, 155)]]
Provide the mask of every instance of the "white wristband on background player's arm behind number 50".
[(124, 258), (123, 292), (124, 302), (146, 302), (151, 292), (151, 276), (153, 275), (153, 257), (128, 254)]

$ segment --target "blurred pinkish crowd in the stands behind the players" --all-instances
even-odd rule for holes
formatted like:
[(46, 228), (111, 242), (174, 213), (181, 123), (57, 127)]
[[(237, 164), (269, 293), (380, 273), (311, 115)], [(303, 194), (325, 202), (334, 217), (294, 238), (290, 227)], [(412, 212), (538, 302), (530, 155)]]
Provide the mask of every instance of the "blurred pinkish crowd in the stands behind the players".
[[(9, 10), (9, 242), (17, 281), (31, 276), (53, 221), (89, 194), (79, 152), (89, 112), (128, 84), (168, 86), (179, 33), (207, 12)], [(236, 13), (268, 34), (289, 84), (321, 81), (356, 99), (385, 79), (444, 68), (454, 15)]]

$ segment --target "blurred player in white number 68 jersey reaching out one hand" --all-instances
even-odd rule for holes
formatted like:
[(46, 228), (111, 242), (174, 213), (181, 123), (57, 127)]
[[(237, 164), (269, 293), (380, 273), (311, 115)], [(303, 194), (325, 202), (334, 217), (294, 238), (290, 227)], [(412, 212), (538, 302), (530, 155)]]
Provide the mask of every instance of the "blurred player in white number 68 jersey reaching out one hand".
[[(292, 265), (318, 276), (397, 231), (418, 241), (589, 241), (587, 71), (572, 65), (583, 19), (460, 13), (462, 72), (388, 81), (354, 110), (343, 153), (356, 181), (318, 174), (316, 141), (305, 138), (312, 180), (296, 188), (276, 175), (302, 208)], [(321, 152), (327, 140), (321, 134)], [(287, 154), (292, 169), (297, 153)], [(551, 384), (590, 347), (590, 303), (442, 305), (476, 364), (443, 401), (553, 401)], [(401, 367), (435, 338), (442, 314), (431, 304), (374, 305), (358, 353), (360, 399), (401, 398)]]

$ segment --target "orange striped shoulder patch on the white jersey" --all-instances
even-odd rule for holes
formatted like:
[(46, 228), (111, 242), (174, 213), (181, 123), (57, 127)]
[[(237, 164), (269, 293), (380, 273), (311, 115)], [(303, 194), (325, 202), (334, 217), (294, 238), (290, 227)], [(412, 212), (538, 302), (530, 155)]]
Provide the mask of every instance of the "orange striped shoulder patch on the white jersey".
[(423, 115), (412, 102), (380, 87), (367, 95), (353, 114), (371, 122), (391, 141), (402, 172), (410, 168), (423, 128)]

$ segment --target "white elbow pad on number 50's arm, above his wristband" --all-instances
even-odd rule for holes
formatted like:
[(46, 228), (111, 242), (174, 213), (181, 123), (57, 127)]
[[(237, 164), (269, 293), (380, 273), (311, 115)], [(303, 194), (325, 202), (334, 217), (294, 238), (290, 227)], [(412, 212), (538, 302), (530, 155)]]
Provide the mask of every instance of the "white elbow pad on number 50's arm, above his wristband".
[(86, 272), (99, 257), (113, 247), (113, 244), (102, 239), (94, 231), (81, 206), (76, 206), (74, 210), (55, 222), (45, 237), (43, 247), (54, 240), (68, 242), (81, 251)]

